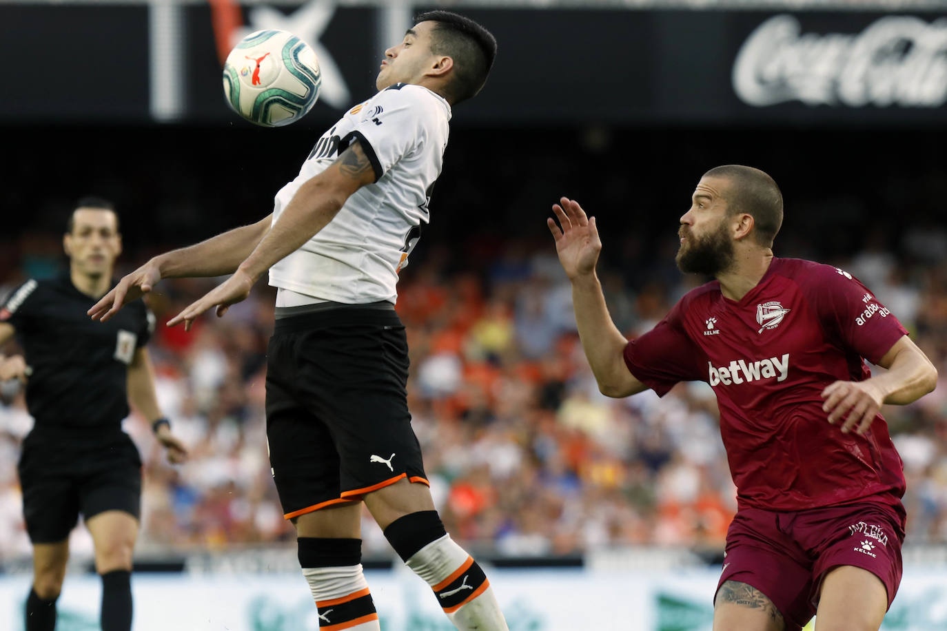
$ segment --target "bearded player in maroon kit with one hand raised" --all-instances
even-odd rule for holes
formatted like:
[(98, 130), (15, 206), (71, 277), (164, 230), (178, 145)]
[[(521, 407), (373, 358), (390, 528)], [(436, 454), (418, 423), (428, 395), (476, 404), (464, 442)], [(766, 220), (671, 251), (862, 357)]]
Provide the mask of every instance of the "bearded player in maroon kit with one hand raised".
[[(553, 211), (601, 392), (663, 396), (706, 381), (717, 394), (738, 511), (714, 630), (798, 631), (816, 615), (816, 631), (877, 631), (901, 581), (904, 538), (902, 462), (879, 409), (931, 392), (931, 361), (848, 272), (773, 255), (782, 195), (759, 169), (701, 178), (676, 261), (716, 280), (633, 342), (596, 276), (596, 219), (566, 198)], [(886, 372), (872, 377), (866, 359)]]

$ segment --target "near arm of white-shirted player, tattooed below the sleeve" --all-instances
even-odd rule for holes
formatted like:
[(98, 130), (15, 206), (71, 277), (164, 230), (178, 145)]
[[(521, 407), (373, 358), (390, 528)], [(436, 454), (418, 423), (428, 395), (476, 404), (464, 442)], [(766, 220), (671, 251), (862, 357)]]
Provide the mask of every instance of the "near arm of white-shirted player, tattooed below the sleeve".
[(250, 288), (272, 265), (322, 230), (362, 186), (373, 184), (379, 173), (356, 140), (343, 151), (331, 167), (299, 187), (286, 209), (256, 249), (246, 257), (234, 275), (168, 321), (169, 326), (190, 324), (210, 307), (222, 316), (230, 305), (250, 294)]

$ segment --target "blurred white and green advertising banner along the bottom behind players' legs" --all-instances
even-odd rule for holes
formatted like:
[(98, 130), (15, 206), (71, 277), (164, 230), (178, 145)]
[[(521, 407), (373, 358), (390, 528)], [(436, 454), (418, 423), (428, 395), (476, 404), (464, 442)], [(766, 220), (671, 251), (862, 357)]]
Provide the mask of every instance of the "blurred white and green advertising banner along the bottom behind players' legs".
[[(716, 570), (491, 570), (510, 631), (710, 631)], [(407, 570), (366, 571), (383, 631), (451, 631)], [(134, 631), (317, 631), (298, 574), (135, 574)], [(0, 579), (0, 628), (22, 631), (29, 577)], [(99, 580), (70, 575), (57, 631), (98, 629)], [(906, 568), (883, 631), (947, 630), (947, 573)]]

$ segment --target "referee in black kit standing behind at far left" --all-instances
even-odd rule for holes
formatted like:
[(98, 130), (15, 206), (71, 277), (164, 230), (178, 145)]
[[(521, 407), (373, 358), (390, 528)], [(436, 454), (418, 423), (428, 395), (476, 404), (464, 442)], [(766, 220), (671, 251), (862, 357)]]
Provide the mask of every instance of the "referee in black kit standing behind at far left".
[(121, 429), (129, 403), (152, 421), (171, 463), (187, 453), (158, 408), (145, 344), (154, 317), (140, 300), (105, 324), (89, 307), (115, 283), (121, 252), (115, 208), (85, 198), (63, 237), (69, 273), (28, 280), (0, 309), (0, 349), (16, 336), (24, 355), (0, 355), (0, 379), (26, 383), (35, 424), (18, 471), (33, 544), (27, 631), (56, 627), (69, 533), (79, 515), (92, 535), (102, 577), (102, 631), (132, 628), (132, 549), (138, 535), (141, 459)]

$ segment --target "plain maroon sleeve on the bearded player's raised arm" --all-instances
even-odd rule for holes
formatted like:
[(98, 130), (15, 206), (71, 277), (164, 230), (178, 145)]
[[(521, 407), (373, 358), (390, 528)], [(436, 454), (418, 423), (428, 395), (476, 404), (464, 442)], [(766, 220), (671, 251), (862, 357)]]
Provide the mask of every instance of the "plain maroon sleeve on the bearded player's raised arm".
[(701, 372), (704, 354), (684, 328), (682, 303), (677, 303), (652, 330), (625, 346), (628, 370), (659, 396), (668, 394), (678, 381), (705, 377)]

